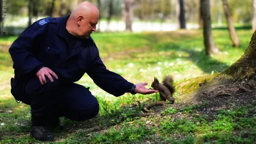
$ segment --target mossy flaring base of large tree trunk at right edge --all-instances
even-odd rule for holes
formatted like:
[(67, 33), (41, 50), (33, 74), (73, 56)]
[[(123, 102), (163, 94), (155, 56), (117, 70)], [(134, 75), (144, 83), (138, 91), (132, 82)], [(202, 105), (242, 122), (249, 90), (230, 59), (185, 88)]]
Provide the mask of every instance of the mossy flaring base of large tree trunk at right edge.
[(204, 86), (196, 89), (188, 95), (180, 96), (182, 101), (200, 101), (200, 94), (203, 92), (210, 92), (218, 86), (232, 84), (238, 80), (251, 80), (256, 76), (256, 31), (252, 35), (250, 45), (245, 50), (244, 54), (234, 64), (220, 73), (216, 78), (213, 78), (210, 82)]

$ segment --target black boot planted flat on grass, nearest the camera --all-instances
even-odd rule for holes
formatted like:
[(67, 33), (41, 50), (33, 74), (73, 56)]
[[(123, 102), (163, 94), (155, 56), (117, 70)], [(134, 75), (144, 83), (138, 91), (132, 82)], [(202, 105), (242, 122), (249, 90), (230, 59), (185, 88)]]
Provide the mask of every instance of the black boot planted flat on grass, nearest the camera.
[(30, 126), (30, 136), (40, 141), (53, 141), (54, 136), (50, 132), (46, 125), (46, 120), (44, 118), (35, 117), (31, 115), (32, 125)]

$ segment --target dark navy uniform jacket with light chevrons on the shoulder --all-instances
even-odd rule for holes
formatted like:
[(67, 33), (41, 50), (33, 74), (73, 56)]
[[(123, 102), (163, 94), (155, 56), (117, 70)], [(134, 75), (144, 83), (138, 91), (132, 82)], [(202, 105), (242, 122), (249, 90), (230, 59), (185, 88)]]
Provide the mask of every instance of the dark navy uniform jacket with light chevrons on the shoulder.
[(9, 53), (14, 62), (14, 79), (35, 76), (40, 68), (48, 67), (62, 83), (76, 82), (87, 73), (97, 86), (114, 96), (130, 92), (134, 84), (106, 69), (91, 37), (78, 39), (66, 56), (68, 17), (38, 20), (13, 42)]

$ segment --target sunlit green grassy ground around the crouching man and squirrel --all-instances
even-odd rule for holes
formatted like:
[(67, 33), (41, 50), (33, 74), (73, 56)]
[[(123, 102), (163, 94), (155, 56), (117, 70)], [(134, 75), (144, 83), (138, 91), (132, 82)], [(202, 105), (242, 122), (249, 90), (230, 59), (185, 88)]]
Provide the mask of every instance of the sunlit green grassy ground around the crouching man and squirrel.
[[(237, 32), (241, 48), (232, 47), (227, 29), (213, 30), (214, 41), (221, 51), (216, 56), (205, 56), (201, 30), (107, 33), (93, 34), (92, 37), (109, 70), (135, 84), (148, 82), (149, 85), (154, 76), (162, 79), (165, 74), (172, 74), (179, 89), (178, 86), (184, 81), (221, 72), (236, 62), (249, 45), (253, 33), (244, 28)], [(16, 103), (10, 94), (9, 82), (13, 70), (8, 47), (15, 38), (16, 36), (0, 39), (0, 143), (39, 143), (29, 137), (30, 107)], [(178, 91), (174, 105), (164, 104), (152, 108), (156, 113), (154, 116), (130, 118), (130, 114), (142, 112), (142, 105), (159, 100), (159, 95), (125, 94), (116, 98), (98, 88), (87, 75), (77, 83), (90, 86), (92, 94), (100, 103), (100, 112), (96, 118), (85, 122), (61, 118), (66, 130), (54, 133), (54, 143), (248, 144), (256, 141), (254, 93), (250, 94), (252, 100), (242, 104), (228, 101), (227, 98), (220, 103), (226, 107), (216, 107), (210, 99), (185, 106), (178, 97)], [(190, 91), (188, 86), (182, 93)], [(124, 117), (124, 121), (120, 121), (120, 117)], [(86, 132), (88, 128), (110, 123), (117, 125), (96, 132)]]

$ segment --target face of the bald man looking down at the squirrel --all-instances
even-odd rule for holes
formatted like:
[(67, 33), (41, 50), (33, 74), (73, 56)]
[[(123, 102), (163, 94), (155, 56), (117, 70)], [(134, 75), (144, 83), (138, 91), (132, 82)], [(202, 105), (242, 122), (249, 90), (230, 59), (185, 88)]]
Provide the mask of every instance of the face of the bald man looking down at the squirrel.
[(88, 14), (88, 16), (78, 18), (79, 26), (79, 35), (81, 38), (89, 38), (92, 32), (96, 32), (96, 25), (98, 24), (98, 15), (97, 14)]

